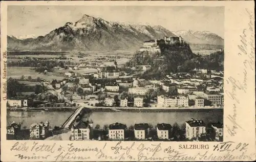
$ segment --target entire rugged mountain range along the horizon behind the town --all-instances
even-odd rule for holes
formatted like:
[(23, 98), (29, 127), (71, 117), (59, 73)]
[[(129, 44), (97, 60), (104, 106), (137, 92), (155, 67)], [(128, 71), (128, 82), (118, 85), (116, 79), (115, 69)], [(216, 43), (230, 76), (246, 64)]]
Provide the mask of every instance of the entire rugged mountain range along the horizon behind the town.
[(138, 50), (143, 41), (164, 36), (182, 36), (195, 44), (224, 44), (224, 39), (210, 32), (170, 32), (162, 26), (121, 24), (83, 15), (45, 36), (8, 36), (7, 48), (9, 51)]

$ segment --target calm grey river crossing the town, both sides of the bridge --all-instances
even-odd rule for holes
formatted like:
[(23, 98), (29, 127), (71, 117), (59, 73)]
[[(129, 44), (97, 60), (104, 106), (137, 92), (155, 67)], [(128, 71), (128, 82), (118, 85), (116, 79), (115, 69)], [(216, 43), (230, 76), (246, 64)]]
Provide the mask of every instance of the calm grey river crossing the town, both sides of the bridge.
[[(33, 123), (50, 122), (50, 127), (61, 126), (72, 112), (40, 112), (40, 111), (9, 111), (7, 112), (7, 123), (22, 122), (22, 128), (29, 128)], [(99, 124), (102, 128), (105, 124), (115, 122), (126, 124), (127, 126), (135, 123), (149, 123), (156, 125), (158, 123), (169, 123), (173, 125), (177, 122), (180, 126), (185, 121), (201, 119), (205, 123), (223, 122), (223, 109), (210, 109), (192, 112), (93, 112), (90, 119), (94, 122), (94, 126)]]

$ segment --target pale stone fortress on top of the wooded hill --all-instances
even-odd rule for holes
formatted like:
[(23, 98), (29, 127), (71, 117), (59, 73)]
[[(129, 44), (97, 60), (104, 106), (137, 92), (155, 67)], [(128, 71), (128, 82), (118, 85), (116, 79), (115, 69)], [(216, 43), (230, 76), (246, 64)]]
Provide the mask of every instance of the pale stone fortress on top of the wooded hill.
[(163, 39), (155, 39), (155, 40), (148, 40), (148, 41), (144, 41), (143, 43), (143, 47), (141, 47), (139, 49), (139, 52), (159, 52), (161, 53), (161, 48), (160, 46), (162, 44), (166, 44), (166, 45), (172, 45), (172, 44), (186, 44), (186, 42), (183, 40), (183, 38), (180, 37), (164, 37)]

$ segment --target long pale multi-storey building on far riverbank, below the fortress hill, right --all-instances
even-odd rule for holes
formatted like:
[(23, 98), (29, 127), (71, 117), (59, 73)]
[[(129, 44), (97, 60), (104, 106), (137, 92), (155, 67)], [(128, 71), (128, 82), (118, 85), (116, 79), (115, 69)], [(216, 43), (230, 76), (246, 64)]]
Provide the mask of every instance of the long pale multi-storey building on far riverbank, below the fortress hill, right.
[(157, 97), (157, 102), (160, 107), (188, 107), (188, 98), (184, 96), (170, 98), (162, 95)]

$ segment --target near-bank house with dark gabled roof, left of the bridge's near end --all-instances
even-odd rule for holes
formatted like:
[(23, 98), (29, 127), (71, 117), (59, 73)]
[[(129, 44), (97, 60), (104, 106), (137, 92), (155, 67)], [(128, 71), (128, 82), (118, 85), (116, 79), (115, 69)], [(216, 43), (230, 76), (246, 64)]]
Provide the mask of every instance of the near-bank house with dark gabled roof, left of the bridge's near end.
[(30, 138), (40, 139), (47, 137), (49, 133), (49, 121), (34, 123), (30, 126)]

